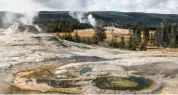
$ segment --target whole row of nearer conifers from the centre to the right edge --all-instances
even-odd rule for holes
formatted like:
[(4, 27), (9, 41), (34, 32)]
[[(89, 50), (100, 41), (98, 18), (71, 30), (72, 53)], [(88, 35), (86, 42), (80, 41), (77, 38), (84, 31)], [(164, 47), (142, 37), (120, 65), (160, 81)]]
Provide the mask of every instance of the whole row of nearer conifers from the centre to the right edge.
[[(80, 37), (77, 32), (74, 36), (72, 36), (71, 33), (65, 33), (61, 38), (86, 44), (98, 44), (106, 39), (106, 33), (103, 27), (103, 24), (98, 23), (92, 38)], [(163, 24), (151, 33), (147, 26), (133, 25), (129, 28), (129, 31), (129, 40), (125, 40), (124, 37), (121, 37), (120, 41), (118, 41), (117, 37), (113, 36), (108, 45), (113, 48), (141, 51), (147, 50), (148, 45), (164, 48), (178, 48), (178, 25)]]

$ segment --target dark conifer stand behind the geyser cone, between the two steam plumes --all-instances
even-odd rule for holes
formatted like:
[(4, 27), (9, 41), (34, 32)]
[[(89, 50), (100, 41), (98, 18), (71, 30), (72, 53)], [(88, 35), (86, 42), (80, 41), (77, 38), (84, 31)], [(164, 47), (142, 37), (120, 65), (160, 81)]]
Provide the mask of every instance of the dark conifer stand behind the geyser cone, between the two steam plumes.
[(45, 32), (73, 32), (74, 29), (86, 29), (93, 28), (90, 24), (80, 23), (73, 20), (36, 20), (34, 24), (37, 24)]

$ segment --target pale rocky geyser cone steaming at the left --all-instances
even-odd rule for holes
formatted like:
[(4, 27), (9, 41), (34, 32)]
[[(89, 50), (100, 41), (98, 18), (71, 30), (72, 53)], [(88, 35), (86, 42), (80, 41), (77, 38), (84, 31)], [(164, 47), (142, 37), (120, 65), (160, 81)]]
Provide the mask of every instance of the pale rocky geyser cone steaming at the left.
[(33, 25), (23, 25), (20, 23), (15, 23), (11, 25), (8, 29), (4, 31), (6, 35), (14, 34), (38, 34), (38, 29)]

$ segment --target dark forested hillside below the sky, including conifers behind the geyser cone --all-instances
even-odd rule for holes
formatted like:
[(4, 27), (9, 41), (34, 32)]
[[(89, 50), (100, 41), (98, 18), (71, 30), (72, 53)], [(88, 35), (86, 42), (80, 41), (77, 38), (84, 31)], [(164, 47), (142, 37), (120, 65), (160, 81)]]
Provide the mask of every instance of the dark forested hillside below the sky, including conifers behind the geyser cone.
[[(178, 15), (173, 14), (126, 13), (112, 11), (89, 12), (87, 14), (92, 14), (96, 20), (103, 20), (106, 26), (115, 25), (116, 27), (121, 28), (128, 28), (131, 24), (141, 24), (155, 28), (160, 26), (164, 20), (166, 20), (168, 24), (178, 23)], [(3, 15), (4, 12), (1, 12), (0, 26), (3, 26)], [(67, 11), (40, 12), (34, 23), (38, 24), (44, 31), (48, 32), (70, 32), (73, 29), (92, 28), (90, 24), (79, 23), (79, 21), (73, 19)]]

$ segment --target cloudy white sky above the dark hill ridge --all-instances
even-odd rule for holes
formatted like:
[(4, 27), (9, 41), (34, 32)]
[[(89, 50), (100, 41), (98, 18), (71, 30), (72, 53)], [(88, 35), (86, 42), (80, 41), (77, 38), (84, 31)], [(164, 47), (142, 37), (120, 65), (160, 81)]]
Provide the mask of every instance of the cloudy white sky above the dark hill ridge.
[(0, 11), (121, 11), (178, 14), (178, 0), (0, 0)]

